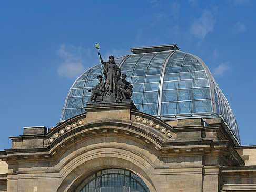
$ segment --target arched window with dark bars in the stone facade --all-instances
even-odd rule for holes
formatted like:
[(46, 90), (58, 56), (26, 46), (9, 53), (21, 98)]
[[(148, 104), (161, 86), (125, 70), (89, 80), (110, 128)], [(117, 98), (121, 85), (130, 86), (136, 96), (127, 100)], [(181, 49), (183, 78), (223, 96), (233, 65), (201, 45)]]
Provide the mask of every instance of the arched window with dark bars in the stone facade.
[(144, 181), (125, 169), (103, 169), (86, 177), (74, 192), (150, 192)]

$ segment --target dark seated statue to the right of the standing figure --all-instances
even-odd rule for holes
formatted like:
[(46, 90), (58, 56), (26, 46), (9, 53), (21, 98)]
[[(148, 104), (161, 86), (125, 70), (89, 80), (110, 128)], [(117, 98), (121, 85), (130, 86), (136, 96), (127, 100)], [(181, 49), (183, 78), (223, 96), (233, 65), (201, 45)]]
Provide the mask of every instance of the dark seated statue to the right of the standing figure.
[(133, 86), (125, 80), (126, 74), (122, 74), (122, 79), (118, 80), (117, 82), (117, 95), (116, 100), (121, 101), (127, 101), (131, 100), (130, 97), (132, 96), (132, 88)]

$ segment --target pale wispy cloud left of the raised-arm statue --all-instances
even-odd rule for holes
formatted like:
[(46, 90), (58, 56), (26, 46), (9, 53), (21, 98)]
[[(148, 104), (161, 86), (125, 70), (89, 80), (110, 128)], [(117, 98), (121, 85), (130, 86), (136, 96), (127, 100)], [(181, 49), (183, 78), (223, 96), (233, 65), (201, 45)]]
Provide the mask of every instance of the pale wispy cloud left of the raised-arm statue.
[(58, 66), (57, 71), (60, 76), (72, 78), (81, 75), (84, 72), (85, 67), (82, 65), (82, 48), (70, 46), (70, 49), (72, 49), (74, 53), (68, 51), (65, 44), (62, 44), (58, 50), (58, 55), (64, 59), (64, 62)]

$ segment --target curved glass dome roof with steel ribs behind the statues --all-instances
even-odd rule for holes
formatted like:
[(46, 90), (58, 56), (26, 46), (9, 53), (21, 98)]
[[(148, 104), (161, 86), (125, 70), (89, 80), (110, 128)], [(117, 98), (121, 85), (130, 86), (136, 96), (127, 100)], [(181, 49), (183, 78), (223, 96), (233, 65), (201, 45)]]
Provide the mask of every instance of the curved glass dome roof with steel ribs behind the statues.
[[(227, 99), (204, 62), (195, 55), (168, 50), (138, 53), (115, 59), (133, 85), (137, 109), (163, 120), (222, 116), (240, 143), (237, 122)], [(83, 73), (68, 92), (61, 121), (84, 113), (89, 88), (97, 84), (100, 64)]]

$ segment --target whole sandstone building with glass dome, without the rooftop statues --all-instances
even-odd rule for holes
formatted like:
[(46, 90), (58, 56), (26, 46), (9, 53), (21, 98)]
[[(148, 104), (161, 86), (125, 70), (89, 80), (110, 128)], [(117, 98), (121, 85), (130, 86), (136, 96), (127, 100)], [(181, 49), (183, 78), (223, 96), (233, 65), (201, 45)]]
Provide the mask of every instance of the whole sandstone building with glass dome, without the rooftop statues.
[(24, 127), (0, 151), (0, 191), (256, 191), (256, 146), (241, 146), (203, 61), (176, 44), (115, 59), (133, 102), (87, 103), (100, 65), (68, 92), (56, 127)]

